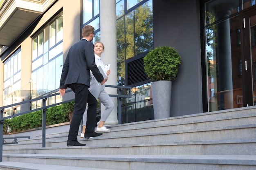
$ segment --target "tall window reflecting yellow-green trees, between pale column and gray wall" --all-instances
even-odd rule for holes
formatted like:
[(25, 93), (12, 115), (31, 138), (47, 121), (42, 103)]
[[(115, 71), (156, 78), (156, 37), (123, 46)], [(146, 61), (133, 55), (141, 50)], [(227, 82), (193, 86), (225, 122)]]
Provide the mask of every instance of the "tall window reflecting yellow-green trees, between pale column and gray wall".
[[(152, 3), (152, 0), (117, 1), (117, 85), (119, 86), (126, 85), (126, 60), (153, 49)], [(122, 100), (122, 123), (154, 119), (150, 87), (150, 84), (133, 87), (132, 97)]]

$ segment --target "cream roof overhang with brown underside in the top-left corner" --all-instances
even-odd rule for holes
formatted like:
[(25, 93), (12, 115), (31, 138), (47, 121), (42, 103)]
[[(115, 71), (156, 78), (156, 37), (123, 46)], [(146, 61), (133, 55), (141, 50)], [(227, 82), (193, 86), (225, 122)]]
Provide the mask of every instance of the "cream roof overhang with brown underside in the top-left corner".
[(4, 0), (0, 9), (0, 45), (10, 46), (55, 0)]

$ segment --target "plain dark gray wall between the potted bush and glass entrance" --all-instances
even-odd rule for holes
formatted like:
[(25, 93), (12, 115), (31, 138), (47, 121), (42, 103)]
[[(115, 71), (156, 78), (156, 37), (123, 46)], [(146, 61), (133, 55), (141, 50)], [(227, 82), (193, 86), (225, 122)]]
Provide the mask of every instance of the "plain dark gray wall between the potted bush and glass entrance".
[(202, 113), (199, 0), (153, 0), (154, 46), (174, 47), (182, 64), (172, 81), (171, 117)]

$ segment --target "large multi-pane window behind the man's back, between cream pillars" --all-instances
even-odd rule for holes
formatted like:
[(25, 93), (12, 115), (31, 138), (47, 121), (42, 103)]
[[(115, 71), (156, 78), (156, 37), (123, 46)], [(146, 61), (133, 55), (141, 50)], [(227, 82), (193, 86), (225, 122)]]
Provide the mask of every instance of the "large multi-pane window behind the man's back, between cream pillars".
[[(35, 98), (59, 88), (63, 64), (63, 16), (38, 33), (32, 45), (31, 97)], [(61, 101), (60, 95), (52, 97), (49, 104), (56, 101)], [(41, 101), (32, 103), (32, 109), (41, 106)]]

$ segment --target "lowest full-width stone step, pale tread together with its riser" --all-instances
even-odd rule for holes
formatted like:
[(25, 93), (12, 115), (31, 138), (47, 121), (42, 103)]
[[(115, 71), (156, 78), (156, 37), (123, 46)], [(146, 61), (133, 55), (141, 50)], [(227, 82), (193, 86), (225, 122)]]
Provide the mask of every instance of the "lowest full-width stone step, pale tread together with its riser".
[[(9, 154), (5, 157), (12, 157), (21, 160), (23, 163), (33, 163), (36, 160), (43, 159), (43, 164), (47, 164), (49, 168), (44, 170), (56, 170), (51, 167), (61, 164), (62, 166), (78, 166), (84, 165), (92, 168), (107, 168), (115, 170), (169, 170), (170, 168), (180, 170), (181, 168), (194, 170), (196, 167), (202, 169), (208, 167), (207, 170), (215, 169), (211, 167), (226, 167), (232, 170), (255, 170), (256, 155), (40, 155), (40, 154)], [(5, 158), (6, 159), (6, 158)], [(95, 163), (101, 161), (101, 163)], [(74, 165), (75, 162), (75, 165)], [(0, 166), (5, 162), (0, 162)], [(9, 162), (8, 162), (9, 163)], [(16, 166), (21, 164), (18, 162)], [(178, 166), (178, 164), (182, 164)], [(210, 166), (209, 166), (210, 165)], [(38, 166), (38, 164), (37, 164)], [(45, 166), (45, 165), (42, 165)], [(58, 165), (57, 165), (58, 166)], [(180, 168), (175, 168), (175, 166)], [(190, 167), (190, 168), (189, 168)], [(74, 167), (72, 170), (76, 170)], [(28, 169), (31, 170), (31, 169)], [(34, 169), (37, 170), (37, 169)], [(42, 170), (42, 169), (38, 169)], [(62, 169), (63, 170), (63, 169)], [(64, 169), (66, 170), (66, 169)], [(70, 169), (69, 169), (70, 170)], [(77, 169), (80, 170), (80, 169)]]

